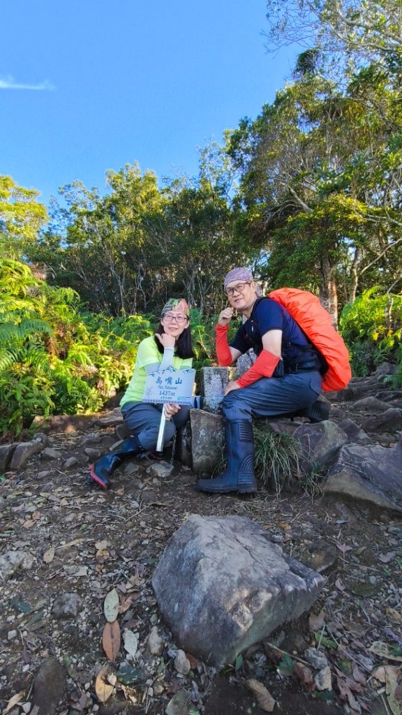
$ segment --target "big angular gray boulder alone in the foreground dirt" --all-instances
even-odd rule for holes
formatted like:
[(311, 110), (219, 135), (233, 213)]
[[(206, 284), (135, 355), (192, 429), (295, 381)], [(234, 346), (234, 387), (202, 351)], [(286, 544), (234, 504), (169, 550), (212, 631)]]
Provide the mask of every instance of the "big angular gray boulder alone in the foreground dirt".
[(240, 516), (190, 516), (152, 578), (177, 645), (217, 668), (307, 611), (323, 583)]

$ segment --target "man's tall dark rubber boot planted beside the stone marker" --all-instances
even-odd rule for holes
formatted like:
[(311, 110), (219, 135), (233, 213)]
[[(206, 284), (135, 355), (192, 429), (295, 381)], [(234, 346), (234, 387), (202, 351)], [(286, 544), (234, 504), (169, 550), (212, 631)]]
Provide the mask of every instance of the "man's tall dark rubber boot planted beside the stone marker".
[(254, 475), (253, 425), (248, 420), (233, 420), (226, 426), (227, 468), (219, 477), (198, 480), (196, 488), (210, 493), (254, 493), (257, 491), (257, 483)]

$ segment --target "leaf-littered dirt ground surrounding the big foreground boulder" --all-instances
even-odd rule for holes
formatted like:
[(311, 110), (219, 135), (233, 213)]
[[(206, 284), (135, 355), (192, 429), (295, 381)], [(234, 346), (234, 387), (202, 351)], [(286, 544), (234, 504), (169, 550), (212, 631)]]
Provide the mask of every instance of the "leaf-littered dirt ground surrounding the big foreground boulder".
[[(50, 435), (59, 460), (36, 455), (21, 473), (0, 478), (0, 553), (34, 557), (31, 568), (23, 566), (1, 581), (1, 712), (41, 715), (61, 694), (57, 715), (162, 715), (185, 691), (187, 704), (176, 702), (175, 709), (171, 704), (168, 712), (262, 715), (268, 710), (247, 686), (255, 679), (275, 699), (278, 715), (401, 714), (399, 518), (302, 493), (276, 498), (263, 487), (254, 497), (197, 493), (188, 468), (175, 463), (172, 475), (163, 478), (157, 463), (144, 459), (127, 463), (115, 473), (112, 489), (102, 492), (87, 484), (89, 458), (83, 451), (83, 440), (100, 453), (116, 440), (112, 429), (99, 435), (92, 445), (83, 432)], [(62, 464), (69, 457), (77, 464), (66, 470)], [(190, 654), (190, 673), (177, 671), (178, 646), (160, 618), (151, 586), (167, 541), (191, 513), (247, 516), (286, 553), (327, 578), (311, 613), (285, 624), (219, 674)], [(104, 598), (114, 588), (119, 629), (138, 636), (138, 649), (130, 656), (122, 643), (111, 662), (102, 633)], [(54, 603), (67, 593), (79, 597), (76, 612), (60, 616)], [(147, 646), (153, 626), (163, 640), (159, 655)], [(317, 669), (305, 661), (310, 646), (328, 661), (329, 683), (327, 672), (321, 689)], [(40, 679), (43, 664), (52, 661), (63, 669)], [(109, 696), (104, 692), (99, 699), (97, 673), (108, 663)], [(57, 678), (62, 683), (55, 695)], [(13, 697), (19, 698), (16, 704)], [(44, 709), (35, 709), (39, 701)]]

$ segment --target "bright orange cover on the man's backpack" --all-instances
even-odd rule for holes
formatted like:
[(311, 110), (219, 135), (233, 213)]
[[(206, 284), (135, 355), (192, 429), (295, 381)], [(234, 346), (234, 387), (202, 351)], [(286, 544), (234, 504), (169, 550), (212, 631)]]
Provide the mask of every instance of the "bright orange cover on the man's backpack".
[(268, 297), (290, 312), (327, 361), (328, 370), (323, 375), (323, 390), (343, 390), (352, 377), (348, 348), (333, 327), (330, 314), (321, 305), (320, 299), (308, 290), (298, 288), (278, 288), (268, 293)]

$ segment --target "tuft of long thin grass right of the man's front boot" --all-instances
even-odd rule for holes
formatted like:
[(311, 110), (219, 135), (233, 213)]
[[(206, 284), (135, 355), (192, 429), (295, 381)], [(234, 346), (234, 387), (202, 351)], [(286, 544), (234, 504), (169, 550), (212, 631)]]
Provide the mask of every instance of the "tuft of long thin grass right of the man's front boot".
[(277, 497), (283, 488), (301, 488), (310, 496), (320, 493), (322, 478), (317, 465), (302, 460), (300, 442), (285, 432), (272, 432), (265, 425), (253, 425), (255, 474)]

